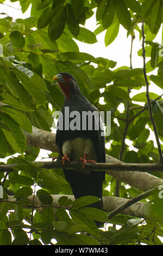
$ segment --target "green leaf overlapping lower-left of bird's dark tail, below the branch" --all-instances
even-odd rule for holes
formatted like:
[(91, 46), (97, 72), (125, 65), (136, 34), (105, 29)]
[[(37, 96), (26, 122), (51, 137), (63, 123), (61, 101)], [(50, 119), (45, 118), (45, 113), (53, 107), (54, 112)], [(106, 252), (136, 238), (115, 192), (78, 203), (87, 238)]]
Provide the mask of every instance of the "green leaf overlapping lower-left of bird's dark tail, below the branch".
[(76, 199), (72, 203), (72, 207), (81, 208), (81, 207), (84, 207), (86, 205), (93, 204), (93, 203), (96, 203), (96, 202), (99, 202), (99, 201), (100, 201), (100, 199), (98, 197), (84, 196), (84, 197), (80, 197), (80, 198)]

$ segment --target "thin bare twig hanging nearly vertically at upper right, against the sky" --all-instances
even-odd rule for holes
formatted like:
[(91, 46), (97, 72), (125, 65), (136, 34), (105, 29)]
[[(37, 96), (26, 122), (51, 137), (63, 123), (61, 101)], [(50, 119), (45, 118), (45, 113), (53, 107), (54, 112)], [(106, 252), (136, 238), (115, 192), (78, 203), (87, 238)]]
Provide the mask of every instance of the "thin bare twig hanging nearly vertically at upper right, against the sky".
[(158, 145), (160, 161), (163, 162), (160, 140), (159, 140), (158, 131), (157, 131), (154, 119), (153, 119), (152, 103), (151, 103), (151, 100), (150, 100), (150, 97), (149, 97), (149, 83), (148, 83), (147, 74), (146, 74), (145, 32), (144, 32), (144, 22), (143, 22), (143, 20), (142, 20), (142, 57), (143, 57), (143, 74), (144, 74), (145, 82), (146, 82), (146, 97), (147, 97), (147, 103), (148, 103), (149, 117), (150, 117), (152, 125), (153, 125), (153, 131), (154, 131), (156, 143)]

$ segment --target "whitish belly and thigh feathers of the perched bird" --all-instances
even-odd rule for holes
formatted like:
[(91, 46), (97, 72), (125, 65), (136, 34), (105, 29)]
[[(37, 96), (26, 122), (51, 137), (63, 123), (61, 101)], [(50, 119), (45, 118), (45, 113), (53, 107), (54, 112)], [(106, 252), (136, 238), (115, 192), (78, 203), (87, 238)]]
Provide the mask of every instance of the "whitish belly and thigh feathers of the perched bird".
[(78, 161), (80, 157), (84, 157), (84, 154), (87, 154), (86, 160), (97, 161), (96, 151), (91, 139), (76, 138), (66, 141), (62, 145), (62, 153), (64, 155), (68, 153), (68, 157), (72, 161)]

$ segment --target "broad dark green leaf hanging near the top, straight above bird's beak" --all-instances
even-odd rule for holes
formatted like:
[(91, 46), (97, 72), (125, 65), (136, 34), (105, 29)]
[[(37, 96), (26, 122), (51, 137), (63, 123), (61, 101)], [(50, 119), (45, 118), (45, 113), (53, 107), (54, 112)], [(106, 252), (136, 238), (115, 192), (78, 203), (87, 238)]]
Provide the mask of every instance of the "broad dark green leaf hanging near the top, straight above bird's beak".
[(48, 27), (48, 34), (52, 40), (57, 40), (64, 31), (66, 22), (65, 8), (56, 8), (53, 19)]

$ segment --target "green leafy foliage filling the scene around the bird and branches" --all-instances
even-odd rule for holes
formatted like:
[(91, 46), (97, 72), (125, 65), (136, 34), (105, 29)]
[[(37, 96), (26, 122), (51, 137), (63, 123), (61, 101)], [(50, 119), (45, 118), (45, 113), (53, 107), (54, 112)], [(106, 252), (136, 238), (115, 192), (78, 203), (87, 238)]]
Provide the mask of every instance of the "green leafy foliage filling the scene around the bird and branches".
[[(158, 149), (149, 140), (153, 129), (146, 104), (146, 94), (139, 89), (146, 86), (142, 68), (133, 69), (122, 66), (116, 69), (116, 62), (108, 58), (95, 58), (89, 53), (79, 52), (74, 39), (87, 44), (95, 44), (96, 36), (105, 31), (105, 45), (114, 44), (120, 25), (127, 36), (134, 39), (134, 32), (142, 38), (141, 17), (145, 21), (146, 56), (148, 81), (163, 89), (163, 60), (159, 56), (159, 43), (153, 41), (163, 22), (163, 2), (161, 0), (10, 0), (20, 2), (22, 13), (31, 6), (31, 15), (27, 19), (13, 20), (8, 14), (1, 14), (0, 44), (3, 57), (0, 57), (0, 157), (19, 153), (9, 157), (7, 164), (17, 163), (15, 172), (8, 175), (0, 172), (1, 185), (5, 198), (13, 195), (16, 203), (0, 203), (0, 242), (2, 245), (41, 245), (49, 244), (52, 239), (58, 245), (147, 245), (161, 244), (163, 225), (150, 220), (141, 220), (118, 214), (108, 221), (106, 213), (86, 208), (97, 198), (85, 197), (72, 203), (71, 199), (61, 197), (59, 204), (67, 207), (72, 204), (70, 216), (65, 209), (51, 207), (51, 194), (72, 194), (70, 185), (64, 178), (62, 169), (44, 169), (28, 161), (35, 161), (40, 149), (30, 147), (24, 132), (32, 132), (32, 125), (51, 131), (52, 113), (60, 110), (63, 96), (52, 82), (58, 72), (69, 72), (76, 77), (79, 87), (87, 99), (99, 110), (111, 111), (111, 134), (106, 137), (110, 149), (106, 153), (128, 163), (152, 163), (159, 161)], [(5, 1), (1, 0), (1, 4)], [(13, 9), (14, 10), (14, 9)], [(97, 29), (94, 32), (85, 28), (85, 21), (96, 15)], [(142, 50), (138, 52), (139, 56)], [(109, 56), (108, 56), (109, 57)], [(133, 60), (134, 62), (134, 60)], [(151, 74), (153, 70), (157, 75)], [(103, 93), (100, 93), (104, 88)], [(137, 94), (130, 96), (132, 89)], [(151, 100), (160, 95), (149, 93)], [(104, 98), (105, 105), (100, 103)], [(51, 103), (51, 107), (49, 107)], [(123, 103), (123, 113), (117, 108)], [(127, 107), (128, 106), (128, 107)], [(159, 137), (163, 141), (162, 117), (163, 101), (161, 97), (152, 104), (154, 121)], [(141, 112), (141, 113), (140, 113)], [(115, 121), (116, 118), (116, 121)], [(122, 156), (122, 138), (128, 124), (125, 138), (134, 149), (125, 145)], [(41, 139), (41, 138), (40, 138)], [(56, 153), (49, 154), (49, 157)], [(1, 164), (4, 164), (2, 162)], [(162, 173), (154, 173), (163, 178)], [(35, 186), (40, 190), (36, 194), (45, 204), (42, 213), (33, 211), (33, 202), (29, 196)], [(110, 192), (105, 188), (110, 185)], [(104, 196), (114, 196), (116, 180), (106, 175)], [(135, 187), (127, 188), (121, 183), (120, 197), (133, 198), (141, 191)], [(153, 198), (148, 197), (152, 203)], [(147, 202), (143, 199), (142, 202)], [(159, 202), (159, 207), (162, 203)], [(24, 209), (24, 206), (26, 208)], [(93, 220), (121, 225), (98, 230)], [(27, 224), (24, 224), (26, 220)], [(146, 222), (145, 222), (146, 221)], [(32, 230), (32, 235), (28, 231)], [(3, 231), (1, 231), (3, 230)], [(91, 234), (84, 235), (83, 231)], [(79, 233), (80, 234), (77, 234)], [(14, 240), (11, 239), (11, 233)], [(52, 240), (53, 241), (53, 240)]]

